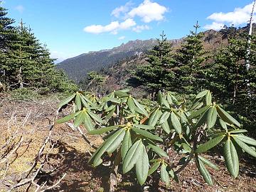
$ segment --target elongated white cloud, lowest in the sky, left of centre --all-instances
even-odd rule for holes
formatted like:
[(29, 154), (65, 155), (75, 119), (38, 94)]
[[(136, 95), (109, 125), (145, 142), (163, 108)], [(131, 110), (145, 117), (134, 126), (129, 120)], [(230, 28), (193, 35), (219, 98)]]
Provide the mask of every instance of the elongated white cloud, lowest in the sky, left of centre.
[(84, 28), (84, 31), (87, 33), (105, 33), (110, 32), (112, 34), (117, 34), (119, 30), (126, 30), (131, 28), (132, 26), (136, 26), (135, 21), (132, 18), (127, 18), (125, 21), (119, 23), (119, 21), (112, 21), (107, 26), (102, 25), (92, 25)]

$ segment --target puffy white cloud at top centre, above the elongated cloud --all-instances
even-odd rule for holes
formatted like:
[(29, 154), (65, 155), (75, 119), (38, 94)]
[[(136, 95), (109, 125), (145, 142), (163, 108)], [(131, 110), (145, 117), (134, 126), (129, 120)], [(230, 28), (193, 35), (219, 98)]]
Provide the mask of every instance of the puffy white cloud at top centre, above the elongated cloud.
[(163, 20), (166, 11), (167, 8), (165, 6), (161, 6), (156, 2), (152, 2), (151, 0), (144, 0), (142, 4), (129, 11), (127, 16), (130, 18), (139, 16), (142, 18), (142, 21), (149, 23), (151, 21)]

